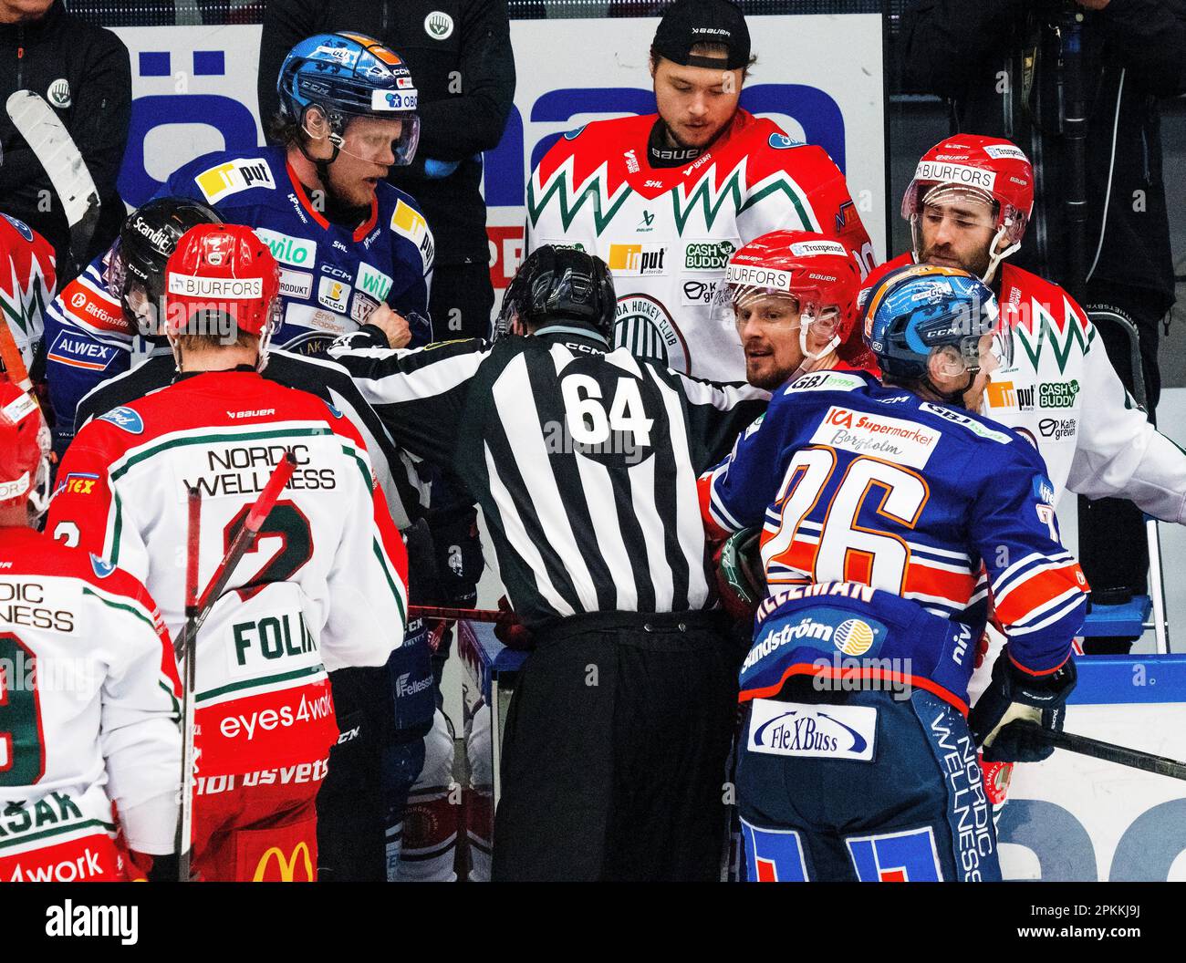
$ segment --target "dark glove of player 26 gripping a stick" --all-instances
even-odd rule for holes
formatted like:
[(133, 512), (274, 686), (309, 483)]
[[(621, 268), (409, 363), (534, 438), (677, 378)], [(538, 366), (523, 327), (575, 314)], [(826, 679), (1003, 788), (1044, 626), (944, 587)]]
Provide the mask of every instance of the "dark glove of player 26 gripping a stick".
[(1066, 699), (1075, 688), (1075, 662), (1052, 675), (1031, 676), (1013, 664), (1006, 645), (993, 663), (993, 680), (968, 715), (968, 727), (983, 746), (987, 763), (1040, 763), (1054, 747), (1019, 720), (1037, 722), (1052, 732), (1063, 731)]

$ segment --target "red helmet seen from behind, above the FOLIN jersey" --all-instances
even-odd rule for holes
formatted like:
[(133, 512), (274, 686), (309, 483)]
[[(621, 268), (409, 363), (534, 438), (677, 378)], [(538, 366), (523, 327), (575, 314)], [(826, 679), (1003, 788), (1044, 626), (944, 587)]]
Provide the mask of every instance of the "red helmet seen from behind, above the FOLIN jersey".
[(222, 314), (240, 333), (259, 334), (261, 352), (275, 329), (280, 269), (272, 250), (241, 224), (198, 224), (165, 266), (165, 318), (171, 337), (191, 331), (195, 314)]

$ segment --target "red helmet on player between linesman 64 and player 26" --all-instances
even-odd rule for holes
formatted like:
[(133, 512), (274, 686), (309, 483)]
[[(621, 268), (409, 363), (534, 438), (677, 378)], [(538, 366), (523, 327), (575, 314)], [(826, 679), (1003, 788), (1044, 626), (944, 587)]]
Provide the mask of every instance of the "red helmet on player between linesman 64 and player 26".
[[(713, 299), (713, 318), (733, 326), (738, 311), (757, 298), (788, 298), (799, 312), (803, 356), (815, 359), (848, 338), (860, 288), (861, 272), (840, 241), (811, 231), (772, 231), (729, 259)], [(809, 334), (817, 343), (814, 351)]]

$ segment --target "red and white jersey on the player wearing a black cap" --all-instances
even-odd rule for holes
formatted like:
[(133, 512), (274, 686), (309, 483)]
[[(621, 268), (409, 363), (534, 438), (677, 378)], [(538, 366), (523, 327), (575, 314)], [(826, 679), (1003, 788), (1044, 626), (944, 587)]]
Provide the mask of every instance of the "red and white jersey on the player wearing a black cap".
[(616, 346), (695, 377), (745, 381), (735, 329), (709, 318), (729, 256), (773, 230), (818, 231), (843, 241), (863, 275), (873, 245), (822, 147), (738, 110), (699, 158), (652, 167), (656, 120), (595, 121), (556, 141), (528, 183), (527, 250), (576, 247), (608, 264)]

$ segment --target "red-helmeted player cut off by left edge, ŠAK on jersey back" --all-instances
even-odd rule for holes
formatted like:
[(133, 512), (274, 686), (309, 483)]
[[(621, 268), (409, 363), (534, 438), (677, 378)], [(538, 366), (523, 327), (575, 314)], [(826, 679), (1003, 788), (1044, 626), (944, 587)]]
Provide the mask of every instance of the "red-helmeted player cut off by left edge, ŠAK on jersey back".
[(173, 646), (139, 581), (36, 530), (49, 452), (37, 403), (0, 380), (0, 882), (142, 878), (128, 848), (176, 865)]

